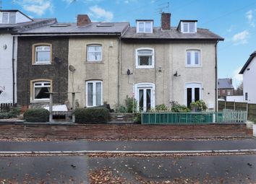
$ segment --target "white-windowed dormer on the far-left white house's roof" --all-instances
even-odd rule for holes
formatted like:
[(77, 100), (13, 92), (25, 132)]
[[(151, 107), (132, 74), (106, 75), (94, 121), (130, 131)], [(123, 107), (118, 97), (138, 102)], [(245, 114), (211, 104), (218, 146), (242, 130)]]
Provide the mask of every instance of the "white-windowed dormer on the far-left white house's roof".
[(33, 22), (19, 10), (0, 10), (0, 24), (17, 24), (22, 22)]

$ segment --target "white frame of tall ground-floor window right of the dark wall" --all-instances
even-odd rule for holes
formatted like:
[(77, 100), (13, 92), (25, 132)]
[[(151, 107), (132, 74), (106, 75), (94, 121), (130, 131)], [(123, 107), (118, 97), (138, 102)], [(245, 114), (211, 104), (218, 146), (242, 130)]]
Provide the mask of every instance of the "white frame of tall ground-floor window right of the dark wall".
[[(101, 105), (103, 105), (103, 85), (100, 80), (90, 80), (85, 82), (85, 96), (86, 96), (86, 107), (95, 107), (96, 105), (96, 83), (101, 83)], [(93, 105), (88, 105), (88, 83), (93, 83)]]

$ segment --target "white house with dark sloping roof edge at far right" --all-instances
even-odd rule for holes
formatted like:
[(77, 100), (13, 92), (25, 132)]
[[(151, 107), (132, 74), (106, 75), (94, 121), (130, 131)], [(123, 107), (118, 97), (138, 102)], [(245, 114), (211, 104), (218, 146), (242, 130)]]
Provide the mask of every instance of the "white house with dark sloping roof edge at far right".
[(244, 102), (256, 103), (256, 51), (253, 52), (244, 64), (239, 74), (243, 75)]

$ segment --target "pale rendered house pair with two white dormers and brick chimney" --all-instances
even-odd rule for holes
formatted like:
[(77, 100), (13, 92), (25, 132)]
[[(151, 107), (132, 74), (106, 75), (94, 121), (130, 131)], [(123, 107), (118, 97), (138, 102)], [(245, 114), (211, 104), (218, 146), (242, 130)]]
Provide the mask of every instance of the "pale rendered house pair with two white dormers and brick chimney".
[(171, 27), (171, 14), (161, 14), (161, 27), (138, 19), (121, 36), (120, 100), (135, 96), (146, 111), (171, 101), (189, 107), (204, 100), (216, 109), (217, 59), (220, 36), (181, 20)]

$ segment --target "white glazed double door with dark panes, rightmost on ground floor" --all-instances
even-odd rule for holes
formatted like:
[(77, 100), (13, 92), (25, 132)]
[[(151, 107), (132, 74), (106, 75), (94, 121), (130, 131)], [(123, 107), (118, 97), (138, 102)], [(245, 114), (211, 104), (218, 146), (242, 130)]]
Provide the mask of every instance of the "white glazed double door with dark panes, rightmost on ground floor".
[(202, 84), (200, 83), (188, 83), (185, 84), (185, 101), (187, 107), (191, 102), (202, 100)]

